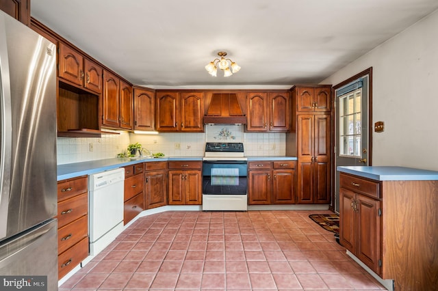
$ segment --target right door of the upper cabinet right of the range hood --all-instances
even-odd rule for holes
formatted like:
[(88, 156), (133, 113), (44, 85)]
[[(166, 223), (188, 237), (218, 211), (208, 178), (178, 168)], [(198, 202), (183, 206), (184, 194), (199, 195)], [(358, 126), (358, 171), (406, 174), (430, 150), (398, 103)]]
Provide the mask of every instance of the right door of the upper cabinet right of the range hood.
[(270, 131), (287, 132), (290, 129), (289, 92), (271, 92), (269, 94)]

